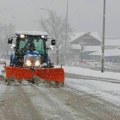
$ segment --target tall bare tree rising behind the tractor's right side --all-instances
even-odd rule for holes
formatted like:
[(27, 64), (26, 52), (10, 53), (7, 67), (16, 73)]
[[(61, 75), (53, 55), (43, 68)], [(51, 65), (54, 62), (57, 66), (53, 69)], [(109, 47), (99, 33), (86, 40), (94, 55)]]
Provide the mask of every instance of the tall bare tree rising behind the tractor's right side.
[[(57, 16), (54, 11), (49, 10), (49, 17), (47, 19), (40, 20), (41, 27), (56, 40), (56, 54), (57, 54), (57, 64), (59, 64), (59, 55), (60, 52), (64, 54), (64, 51), (67, 51), (65, 46), (65, 40), (69, 38), (68, 34), (66, 35), (66, 18)], [(68, 33), (72, 31), (70, 25), (67, 24)], [(66, 41), (68, 45), (68, 40)]]

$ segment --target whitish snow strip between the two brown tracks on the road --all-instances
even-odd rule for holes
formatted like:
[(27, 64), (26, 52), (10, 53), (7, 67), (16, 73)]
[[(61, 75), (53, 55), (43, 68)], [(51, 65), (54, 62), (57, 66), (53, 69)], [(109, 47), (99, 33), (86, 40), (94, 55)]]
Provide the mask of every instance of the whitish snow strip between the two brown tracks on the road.
[[(35, 101), (35, 99), (38, 97), (37, 99), (39, 100), (37, 100), (37, 104), (40, 103), (38, 105), (38, 110), (41, 110), (45, 120), (79, 120), (79, 117), (77, 117), (73, 109), (70, 109), (62, 101), (56, 99), (55, 96), (57, 94), (55, 91), (53, 92), (50, 90), (50, 88), (46, 88), (45, 86), (38, 87), (36, 85), (33, 85), (32, 89), (34, 90), (34, 93), (40, 93), (39, 96), (38, 94), (33, 96), (32, 100)], [(54, 88), (54, 90), (56, 89), (61, 88)]]

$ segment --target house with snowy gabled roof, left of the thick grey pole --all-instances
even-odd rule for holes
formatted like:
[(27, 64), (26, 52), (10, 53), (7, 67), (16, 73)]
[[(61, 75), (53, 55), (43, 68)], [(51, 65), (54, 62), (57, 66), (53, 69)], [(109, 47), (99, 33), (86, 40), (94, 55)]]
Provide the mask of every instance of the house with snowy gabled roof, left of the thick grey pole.
[(90, 53), (101, 50), (101, 39), (97, 32), (74, 33), (71, 39), (71, 55), (75, 59), (89, 60)]

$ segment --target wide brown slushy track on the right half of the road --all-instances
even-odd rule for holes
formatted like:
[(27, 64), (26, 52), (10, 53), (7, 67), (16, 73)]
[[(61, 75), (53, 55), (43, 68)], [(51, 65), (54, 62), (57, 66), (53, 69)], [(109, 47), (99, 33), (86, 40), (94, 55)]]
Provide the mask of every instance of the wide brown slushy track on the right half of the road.
[[(36, 89), (36, 87), (35, 87), (35, 89)], [(38, 90), (43, 91), (44, 93), (45, 93), (45, 91), (46, 92), (49, 91), (48, 94), (50, 95), (50, 99), (52, 98), (51, 99), (52, 101), (50, 101), (47, 98), (45, 98), (45, 100), (47, 99), (53, 107), (54, 107), (54, 105), (58, 106), (59, 104), (62, 104), (62, 105), (64, 105), (64, 107), (66, 107), (70, 111), (72, 111), (74, 113), (76, 119), (71, 117), (70, 120), (81, 120), (81, 119), (82, 120), (86, 120), (86, 119), (110, 120), (111, 118), (115, 118), (115, 120), (119, 120), (118, 119), (119, 117), (116, 116), (116, 114), (112, 113), (112, 111), (109, 111), (110, 107), (108, 105), (105, 106), (106, 103), (104, 103), (100, 99), (92, 98), (92, 96), (86, 95), (86, 93), (84, 93), (84, 95), (89, 96), (89, 98), (87, 98), (87, 99), (85, 97), (81, 97), (80, 95), (76, 94), (76, 92), (74, 93), (74, 92), (69, 91), (67, 88), (57, 88), (57, 89), (56, 88), (47, 88), (46, 90), (45, 89), (37, 87), (37, 91)], [(51, 94), (51, 93), (53, 93), (53, 94)], [(47, 95), (47, 96), (48, 96), (48, 94), (45, 93), (45, 95)], [(67, 96), (67, 97), (65, 98), (65, 96)], [(57, 104), (55, 104), (56, 101), (57, 101)], [(46, 102), (45, 102), (45, 104), (46, 104)], [(109, 108), (107, 108), (107, 107), (109, 107)], [(116, 110), (116, 109), (114, 109), (114, 110)], [(64, 109), (64, 111), (66, 111), (66, 109)], [(64, 112), (64, 113), (66, 113), (66, 112)], [(66, 120), (69, 118), (68, 117), (65, 118), (65, 116), (63, 116), (63, 118), (61, 118), (61, 119)]]

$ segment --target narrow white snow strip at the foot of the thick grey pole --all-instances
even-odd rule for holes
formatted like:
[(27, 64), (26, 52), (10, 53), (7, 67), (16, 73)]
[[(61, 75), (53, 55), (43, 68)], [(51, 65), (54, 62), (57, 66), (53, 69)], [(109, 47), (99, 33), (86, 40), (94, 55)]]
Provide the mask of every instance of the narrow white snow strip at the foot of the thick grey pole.
[(65, 73), (120, 80), (120, 73), (114, 73), (114, 72), (101, 73), (101, 71), (95, 71), (95, 70), (90, 70), (90, 69), (81, 68), (81, 67), (63, 66), (63, 68), (64, 68)]

